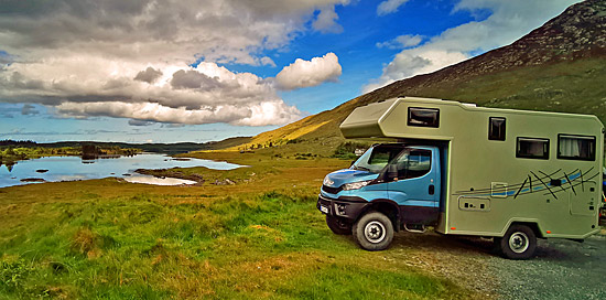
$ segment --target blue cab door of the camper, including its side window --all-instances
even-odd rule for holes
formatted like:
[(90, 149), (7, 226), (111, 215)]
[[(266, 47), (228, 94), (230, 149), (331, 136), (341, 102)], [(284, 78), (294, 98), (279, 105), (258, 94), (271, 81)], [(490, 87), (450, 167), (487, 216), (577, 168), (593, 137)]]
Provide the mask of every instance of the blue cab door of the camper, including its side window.
[(435, 147), (405, 148), (387, 170), (389, 199), (398, 205), (437, 208), (441, 186), (439, 158)]

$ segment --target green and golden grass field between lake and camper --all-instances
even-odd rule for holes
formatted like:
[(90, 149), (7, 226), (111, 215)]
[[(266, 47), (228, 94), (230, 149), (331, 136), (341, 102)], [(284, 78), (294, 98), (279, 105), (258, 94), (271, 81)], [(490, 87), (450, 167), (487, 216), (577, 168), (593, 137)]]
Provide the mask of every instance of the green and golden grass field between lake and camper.
[[(213, 152), (202, 186), (117, 179), (0, 189), (0, 299), (478, 298), (336, 236), (315, 208), (348, 161)], [(229, 178), (234, 185), (215, 185)]]

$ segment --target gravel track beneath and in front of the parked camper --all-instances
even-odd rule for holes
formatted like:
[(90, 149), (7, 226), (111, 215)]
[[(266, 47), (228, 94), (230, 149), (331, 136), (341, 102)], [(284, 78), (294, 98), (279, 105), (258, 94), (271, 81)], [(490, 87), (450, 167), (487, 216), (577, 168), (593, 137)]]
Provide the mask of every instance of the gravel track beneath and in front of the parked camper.
[(501, 258), (489, 239), (399, 233), (383, 259), (448, 278), (474, 299), (606, 299), (606, 229), (584, 243), (540, 239), (530, 260)]

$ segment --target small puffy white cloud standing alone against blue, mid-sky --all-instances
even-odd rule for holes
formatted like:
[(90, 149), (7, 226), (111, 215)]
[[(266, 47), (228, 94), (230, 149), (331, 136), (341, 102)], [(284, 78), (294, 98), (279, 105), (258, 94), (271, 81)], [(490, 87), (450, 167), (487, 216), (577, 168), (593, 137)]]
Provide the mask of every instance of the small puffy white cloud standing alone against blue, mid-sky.
[(296, 58), (294, 63), (278, 73), (275, 82), (279, 88), (289, 90), (316, 86), (324, 82), (336, 82), (340, 73), (337, 55), (329, 52), (311, 61)]

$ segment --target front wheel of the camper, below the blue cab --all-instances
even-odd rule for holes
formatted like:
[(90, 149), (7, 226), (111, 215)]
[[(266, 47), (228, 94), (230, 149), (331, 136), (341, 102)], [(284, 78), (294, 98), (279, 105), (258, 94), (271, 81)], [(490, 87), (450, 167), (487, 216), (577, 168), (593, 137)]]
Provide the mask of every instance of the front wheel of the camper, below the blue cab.
[(358, 245), (366, 250), (383, 250), (393, 239), (393, 225), (386, 215), (379, 212), (369, 212), (354, 224), (354, 237)]

